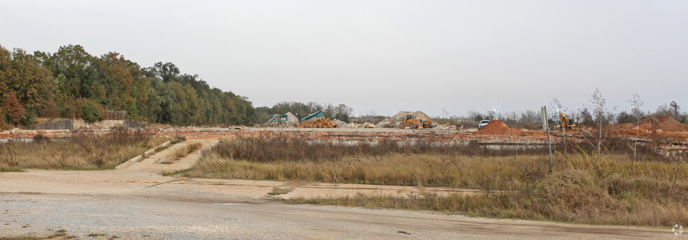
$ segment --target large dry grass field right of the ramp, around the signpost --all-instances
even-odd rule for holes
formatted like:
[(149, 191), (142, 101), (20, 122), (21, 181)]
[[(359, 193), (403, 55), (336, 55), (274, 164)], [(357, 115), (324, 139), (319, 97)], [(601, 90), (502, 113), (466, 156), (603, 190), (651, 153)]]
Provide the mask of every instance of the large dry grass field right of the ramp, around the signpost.
[[(652, 149), (634, 163), (624, 140), (597, 158), (585, 146), (491, 150), (476, 144), (335, 144), (301, 138), (223, 140), (187, 177), (447, 186), (479, 195), (356, 195), (285, 200), (369, 208), (432, 210), (471, 216), (575, 223), (666, 226), (688, 219), (688, 165)], [(619, 147), (615, 147), (619, 146)], [(573, 150), (571, 150), (573, 149)]]

